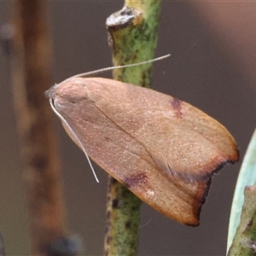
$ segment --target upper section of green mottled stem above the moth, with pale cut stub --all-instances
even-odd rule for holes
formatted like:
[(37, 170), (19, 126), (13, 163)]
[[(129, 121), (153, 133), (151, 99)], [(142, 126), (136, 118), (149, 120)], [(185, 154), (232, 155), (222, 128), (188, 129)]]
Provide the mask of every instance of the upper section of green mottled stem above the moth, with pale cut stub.
[[(117, 19), (118, 17), (118, 19)], [(126, 1), (125, 7), (107, 20), (113, 65), (126, 65), (154, 58), (160, 1)], [(113, 79), (149, 87), (151, 66), (148, 63), (113, 71)]]

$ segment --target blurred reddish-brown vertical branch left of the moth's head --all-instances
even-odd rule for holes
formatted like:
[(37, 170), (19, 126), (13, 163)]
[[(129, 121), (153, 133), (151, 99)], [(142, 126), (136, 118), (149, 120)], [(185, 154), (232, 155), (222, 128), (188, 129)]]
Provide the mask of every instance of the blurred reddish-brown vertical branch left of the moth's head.
[(52, 241), (65, 236), (65, 211), (52, 113), (44, 98), (44, 90), (52, 84), (47, 3), (20, 0), (14, 4), (17, 35), (12, 76), (32, 255), (49, 255)]

